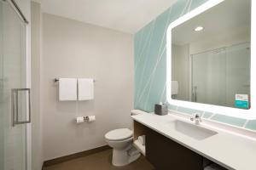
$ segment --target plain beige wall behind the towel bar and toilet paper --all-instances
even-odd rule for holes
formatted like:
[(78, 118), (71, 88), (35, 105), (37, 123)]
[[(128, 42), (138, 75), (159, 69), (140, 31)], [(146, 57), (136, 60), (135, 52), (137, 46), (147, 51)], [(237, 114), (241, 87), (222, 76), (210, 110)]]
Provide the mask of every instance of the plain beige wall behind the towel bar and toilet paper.
[[(43, 14), (41, 104), (44, 160), (105, 145), (104, 134), (131, 127), (133, 37), (119, 31)], [(55, 77), (96, 79), (95, 99), (59, 102)], [(96, 122), (76, 124), (76, 116)]]

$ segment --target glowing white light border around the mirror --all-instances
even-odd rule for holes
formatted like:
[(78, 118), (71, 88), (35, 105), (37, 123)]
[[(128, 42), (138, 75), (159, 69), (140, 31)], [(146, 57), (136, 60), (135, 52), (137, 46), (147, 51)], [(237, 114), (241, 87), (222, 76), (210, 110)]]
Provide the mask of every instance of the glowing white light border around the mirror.
[(203, 3), (201, 6), (190, 11), (188, 14), (184, 14), (182, 17), (173, 21), (170, 26), (168, 26), (166, 32), (166, 99), (170, 105), (183, 106), (199, 111), (208, 111), (225, 116), (254, 120), (256, 119), (256, 77), (253, 76), (253, 72), (256, 72), (256, 67), (253, 67), (253, 64), (256, 65), (256, 59), (253, 56), (256, 55), (256, 35), (254, 31), (256, 30), (256, 2), (253, 0), (251, 1), (251, 108), (249, 110), (241, 110), (218, 105), (207, 105), (172, 99), (172, 28), (179, 26), (183, 22), (192, 19), (196, 15), (201, 14), (207, 9), (212, 8), (222, 2), (224, 2), (224, 0), (209, 0), (207, 3)]

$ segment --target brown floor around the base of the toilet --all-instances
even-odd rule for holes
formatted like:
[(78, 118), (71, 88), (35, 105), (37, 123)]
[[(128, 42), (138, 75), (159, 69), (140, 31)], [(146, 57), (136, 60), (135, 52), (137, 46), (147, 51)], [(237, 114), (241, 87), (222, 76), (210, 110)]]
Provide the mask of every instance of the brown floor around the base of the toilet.
[(44, 167), (44, 170), (154, 170), (154, 167), (144, 156), (125, 167), (113, 167), (111, 157), (112, 150), (104, 150), (90, 156), (79, 157), (50, 167)]

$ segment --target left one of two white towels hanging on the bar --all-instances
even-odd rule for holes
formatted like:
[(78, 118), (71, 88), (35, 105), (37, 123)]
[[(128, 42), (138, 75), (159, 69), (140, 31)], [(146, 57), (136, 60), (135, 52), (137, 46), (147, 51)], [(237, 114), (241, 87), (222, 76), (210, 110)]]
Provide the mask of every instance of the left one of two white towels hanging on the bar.
[(78, 80), (76, 78), (59, 79), (59, 100), (73, 101), (77, 100)]

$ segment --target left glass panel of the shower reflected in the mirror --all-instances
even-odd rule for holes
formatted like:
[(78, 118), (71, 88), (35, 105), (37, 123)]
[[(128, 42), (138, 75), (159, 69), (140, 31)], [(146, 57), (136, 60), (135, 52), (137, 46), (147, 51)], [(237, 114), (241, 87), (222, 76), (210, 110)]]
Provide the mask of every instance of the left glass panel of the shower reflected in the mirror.
[(191, 55), (192, 101), (226, 104), (226, 51), (225, 48)]

